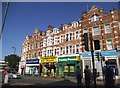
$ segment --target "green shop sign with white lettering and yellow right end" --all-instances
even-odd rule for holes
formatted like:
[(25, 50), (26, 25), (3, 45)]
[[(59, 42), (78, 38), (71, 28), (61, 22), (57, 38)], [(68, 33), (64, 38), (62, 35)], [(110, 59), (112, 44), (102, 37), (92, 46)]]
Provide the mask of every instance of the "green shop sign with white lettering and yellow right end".
[(79, 60), (79, 56), (59, 57), (58, 62), (75, 62)]

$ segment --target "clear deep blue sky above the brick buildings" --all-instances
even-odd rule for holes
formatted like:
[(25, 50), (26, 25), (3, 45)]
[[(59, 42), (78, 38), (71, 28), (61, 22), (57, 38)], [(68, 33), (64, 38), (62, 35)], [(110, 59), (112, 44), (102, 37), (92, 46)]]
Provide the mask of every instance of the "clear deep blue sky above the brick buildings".
[[(59, 28), (61, 24), (79, 21), (82, 12), (89, 11), (93, 5), (103, 8), (105, 13), (109, 13), (112, 7), (118, 10), (117, 2), (10, 2), (2, 34), (0, 60), (14, 53), (12, 47), (21, 56), (25, 36), (33, 35), (36, 27), (46, 31), (48, 25)], [(2, 2), (2, 19), (5, 6), (6, 2)]]

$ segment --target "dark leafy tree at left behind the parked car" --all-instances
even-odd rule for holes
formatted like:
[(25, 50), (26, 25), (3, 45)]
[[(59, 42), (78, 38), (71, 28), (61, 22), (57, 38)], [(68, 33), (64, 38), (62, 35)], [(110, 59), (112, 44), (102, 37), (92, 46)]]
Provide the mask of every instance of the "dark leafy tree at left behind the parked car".
[(8, 62), (8, 66), (10, 68), (17, 68), (18, 63), (20, 61), (20, 57), (17, 56), (16, 54), (11, 54), (11, 55), (5, 56), (5, 61)]

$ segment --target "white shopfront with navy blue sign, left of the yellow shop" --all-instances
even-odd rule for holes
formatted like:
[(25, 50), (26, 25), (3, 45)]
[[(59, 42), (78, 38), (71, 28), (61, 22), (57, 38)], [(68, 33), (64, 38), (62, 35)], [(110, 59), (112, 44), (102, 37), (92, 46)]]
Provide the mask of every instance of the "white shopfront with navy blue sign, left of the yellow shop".
[(39, 59), (26, 60), (25, 75), (39, 75)]

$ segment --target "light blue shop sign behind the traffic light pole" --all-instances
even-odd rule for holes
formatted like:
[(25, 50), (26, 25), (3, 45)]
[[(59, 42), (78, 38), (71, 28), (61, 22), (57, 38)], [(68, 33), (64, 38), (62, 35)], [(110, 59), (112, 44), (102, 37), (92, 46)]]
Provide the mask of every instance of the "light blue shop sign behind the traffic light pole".
[[(100, 52), (102, 56), (117, 56), (116, 51), (101, 51)], [(95, 56), (95, 52), (94, 52)], [(91, 52), (83, 52), (82, 57), (91, 57)]]

